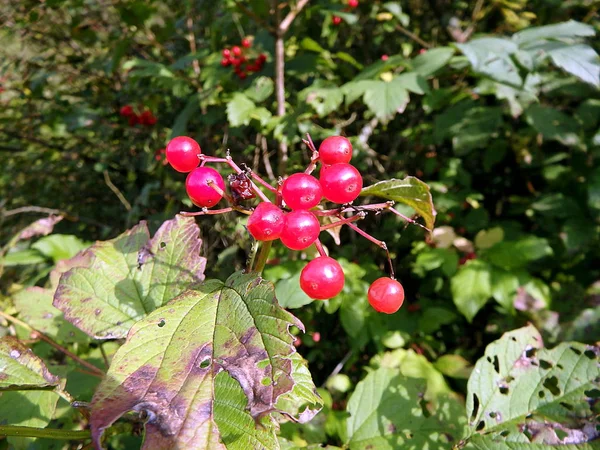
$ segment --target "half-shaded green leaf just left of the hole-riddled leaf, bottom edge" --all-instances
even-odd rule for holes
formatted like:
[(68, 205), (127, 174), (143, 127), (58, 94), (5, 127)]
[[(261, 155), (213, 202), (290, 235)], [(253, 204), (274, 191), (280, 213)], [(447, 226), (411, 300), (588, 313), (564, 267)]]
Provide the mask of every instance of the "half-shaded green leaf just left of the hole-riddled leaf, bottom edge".
[[(466, 417), (450, 396), (437, 408), (423, 406), (425, 383), (398, 370), (381, 368), (358, 383), (348, 402), (351, 450), (450, 449), (463, 434)], [(429, 405), (431, 406), (431, 405)], [(429, 416), (431, 414), (431, 416)]]

